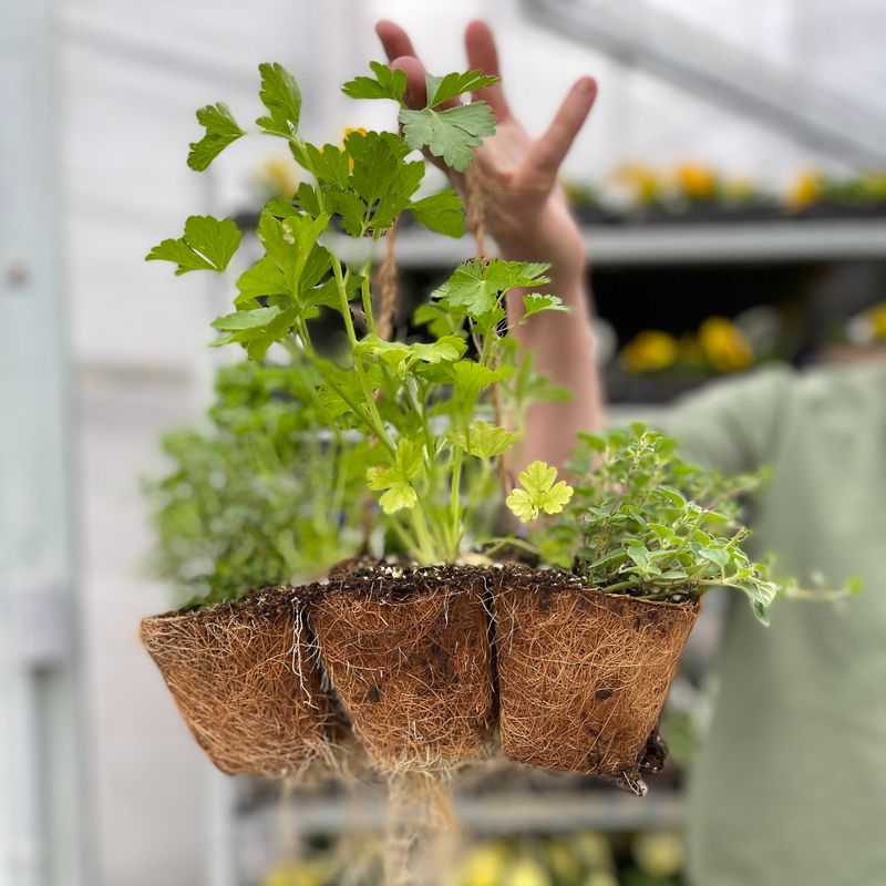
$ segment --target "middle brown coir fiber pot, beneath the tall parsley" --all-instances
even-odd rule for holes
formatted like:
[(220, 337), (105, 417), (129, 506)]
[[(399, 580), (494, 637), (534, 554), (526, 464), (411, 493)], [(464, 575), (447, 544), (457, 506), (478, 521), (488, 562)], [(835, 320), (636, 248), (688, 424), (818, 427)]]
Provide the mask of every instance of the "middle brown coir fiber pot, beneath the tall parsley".
[(317, 596), (323, 666), (378, 770), (446, 771), (486, 753), (495, 691), (484, 571), (381, 566)]

